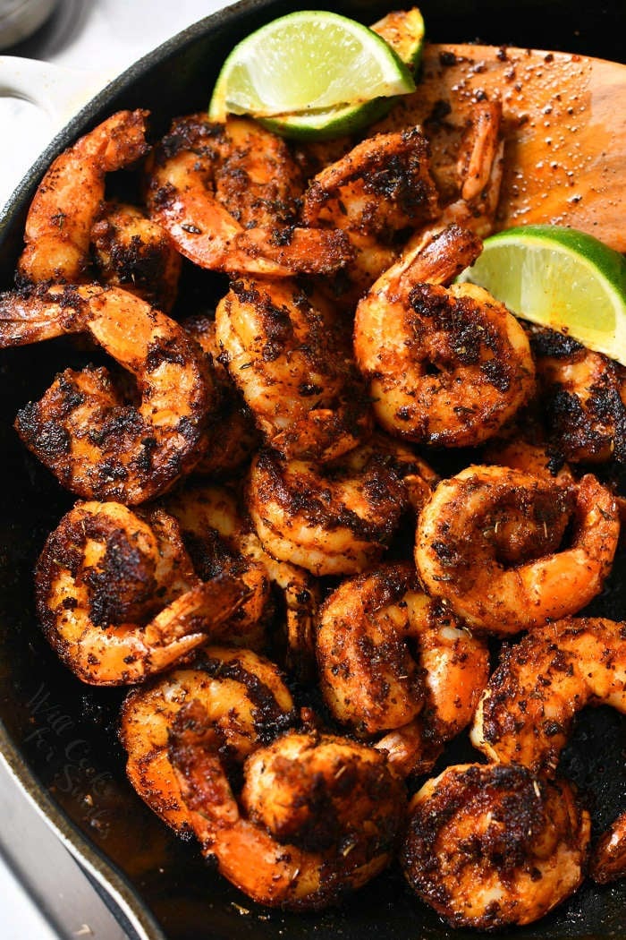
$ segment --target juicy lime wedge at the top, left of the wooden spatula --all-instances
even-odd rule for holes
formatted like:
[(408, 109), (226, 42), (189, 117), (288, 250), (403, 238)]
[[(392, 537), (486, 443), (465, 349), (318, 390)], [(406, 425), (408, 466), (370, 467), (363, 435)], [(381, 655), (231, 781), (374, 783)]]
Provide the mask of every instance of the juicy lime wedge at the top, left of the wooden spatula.
[[(299, 10), (238, 43), (221, 68), (208, 114), (215, 120), (249, 114), (279, 126), (285, 118), (296, 124), (307, 118), (307, 135), (336, 124), (337, 109), (354, 112), (414, 89), (409, 68), (372, 29), (328, 10)], [(366, 118), (380, 113), (370, 108)]]

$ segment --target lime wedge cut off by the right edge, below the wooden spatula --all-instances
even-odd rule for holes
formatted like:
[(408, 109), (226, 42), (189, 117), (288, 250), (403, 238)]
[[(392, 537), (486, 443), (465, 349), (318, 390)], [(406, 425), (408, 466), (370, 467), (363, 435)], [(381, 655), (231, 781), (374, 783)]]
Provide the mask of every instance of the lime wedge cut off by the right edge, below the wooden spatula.
[(511, 313), (626, 365), (626, 259), (585, 232), (549, 225), (498, 232), (457, 281), (479, 284)]

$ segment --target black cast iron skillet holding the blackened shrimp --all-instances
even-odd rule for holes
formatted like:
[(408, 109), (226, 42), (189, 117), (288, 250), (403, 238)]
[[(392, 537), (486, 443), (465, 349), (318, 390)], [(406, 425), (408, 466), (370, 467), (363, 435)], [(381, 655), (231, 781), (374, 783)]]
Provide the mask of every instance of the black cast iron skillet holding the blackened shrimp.
[[(299, 5), (301, 7), (301, 4)], [(310, 5), (314, 6), (314, 5)], [(326, 5), (373, 23), (402, 4)], [(410, 6), (407, 4), (406, 6)], [(529, 46), (619, 59), (620, 0), (424, 0), (428, 38)], [(145, 56), (101, 92), (60, 133), (27, 174), (0, 220), (0, 289), (12, 287), (22, 247), (25, 212), (53, 157), (118, 108), (145, 107), (152, 131), (163, 133), (175, 115), (206, 107), (224, 55), (253, 28), (298, 8), (287, 0), (244, 0), (191, 26)], [(217, 298), (219, 276), (206, 274), (205, 299)], [(174, 837), (130, 789), (116, 739), (122, 692), (90, 689), (74, 680), (43, 641), (33, 609), (32, 571), (48, 533), (72, 498), (24, 450), (12, 430), (19, 407), (38, 398), (60, 368), (79, 365), (65, 340), (0, 355), (0, 744), (15, 776), (84, 869), (104, 885), (128, 918), (129, 933), (154, 940), (212, 940), (288, 936), (290, 940), (423, 940), (471, 938), (452, 931), (389, 871), (340, 909), (315, 916), (268, 912), (243, 897), (204, 863), (197, 847)], [(623, 552), (610, 582), (590, 608), (624, 616)], [(624, 723), (608, 709), (580, 716), (564, 771), (588, 793), (594, 835), (626, 808)], [(463, 741), (460, 760), (476, 760)], [(456, 757), (455, 756), (455, 759)], [(549, 917), (507, 936), (624, 937), (626, 884), (587, 883)]]

